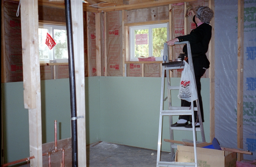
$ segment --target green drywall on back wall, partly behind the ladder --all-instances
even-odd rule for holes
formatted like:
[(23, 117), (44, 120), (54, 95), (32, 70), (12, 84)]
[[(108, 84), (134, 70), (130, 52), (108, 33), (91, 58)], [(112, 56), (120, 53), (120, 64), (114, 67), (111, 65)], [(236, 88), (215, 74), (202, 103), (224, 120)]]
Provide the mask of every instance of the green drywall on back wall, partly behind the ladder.
[[(172, 78), (178, 85), (180, 78)], [(202, 82), (205, 120), (209, 120), (209, 79)], [(101, 140), (135, 147), (157, 149), (161, 78), (100, 77)], [(166, 94), (166, 93), (165, 93)], [(172, 105), (180, 106), (178, 91), (172, 91)], [(167, 96), (167, 94), (166, 94)], [(164, 108), (168, 108), (167, 101)], [(174, 117), (175, 120), (178, 116)], [(163, 119), (163, 139), (170, 139), (169, 116)], [(204, 123), (205, 138), (210, 139), (209, 121)], [(174, 139), (193, 139), (192, 131), (174, 131)], [(201, 141), (201, 134), (197, 132)], [(162, 150), (170, 143), (162, 141)]]

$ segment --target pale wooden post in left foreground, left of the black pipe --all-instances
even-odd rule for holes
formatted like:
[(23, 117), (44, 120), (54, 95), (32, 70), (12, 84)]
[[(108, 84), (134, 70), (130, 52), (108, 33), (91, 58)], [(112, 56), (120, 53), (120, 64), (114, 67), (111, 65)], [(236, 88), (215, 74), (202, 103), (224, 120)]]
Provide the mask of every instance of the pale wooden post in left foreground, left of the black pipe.
[(21, 0), (24, 106), (29, 116), (30, 166), (42, 166), (41, 87), (37, 0)]

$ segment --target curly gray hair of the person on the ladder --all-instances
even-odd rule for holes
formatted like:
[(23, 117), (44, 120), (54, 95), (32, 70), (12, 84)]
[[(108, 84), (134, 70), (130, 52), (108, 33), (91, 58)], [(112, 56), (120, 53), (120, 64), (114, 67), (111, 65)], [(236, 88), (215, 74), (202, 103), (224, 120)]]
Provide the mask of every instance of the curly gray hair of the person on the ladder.
[(198, 6), (196, 8), (196, 17), (203, 23), (210, 23), (214, 16), (214, 12), (207, 6)]

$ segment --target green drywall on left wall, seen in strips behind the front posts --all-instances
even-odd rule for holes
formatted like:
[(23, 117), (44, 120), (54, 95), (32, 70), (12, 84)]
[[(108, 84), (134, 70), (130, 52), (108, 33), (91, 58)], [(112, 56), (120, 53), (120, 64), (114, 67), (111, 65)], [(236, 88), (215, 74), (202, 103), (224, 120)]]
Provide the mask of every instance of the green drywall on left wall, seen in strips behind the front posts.
[[(2, 83), (5, 163), (29, 156), (28, 109), (23, 82)], [(85, 78), (86, 144), (100, 141), (99, 77)], [(42, 143), (71, 137), (69, 79), (41, 81)]]

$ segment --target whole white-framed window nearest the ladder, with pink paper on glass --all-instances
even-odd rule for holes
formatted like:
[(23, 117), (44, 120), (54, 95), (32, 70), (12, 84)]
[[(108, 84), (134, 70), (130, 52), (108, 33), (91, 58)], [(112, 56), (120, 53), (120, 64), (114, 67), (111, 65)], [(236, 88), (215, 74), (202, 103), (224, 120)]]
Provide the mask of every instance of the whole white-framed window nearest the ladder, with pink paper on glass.
[(152, 57), (163, 60), (164, 43), (167, 41), (167, 23), (130, 26), (130, 61), (139, 57)]

